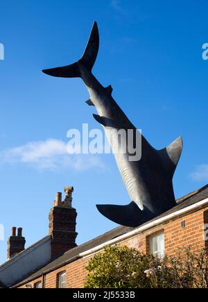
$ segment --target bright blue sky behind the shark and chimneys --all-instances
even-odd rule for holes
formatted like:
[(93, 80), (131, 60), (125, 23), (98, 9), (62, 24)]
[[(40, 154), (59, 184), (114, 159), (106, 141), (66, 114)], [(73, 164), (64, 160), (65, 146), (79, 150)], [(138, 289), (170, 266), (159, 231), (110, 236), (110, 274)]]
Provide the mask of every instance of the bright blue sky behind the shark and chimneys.
[(206, 0), (1, 1), (0, 262), (12, 226), (23, 228), (26, 246), (48, 233), (55, 192), (65, 185), (75, 188), (78, 244), (116, 227), (96, 203), (129, 202), (112, 155), (64, 154), (70, 128), (100, 127), (83, 82), (41, 72), (78, 60), (94, 20), (98, 80), (112, 85), (114, 99), (155, 148), (183, 137), (175, 196), (208, 183), (207, 9)]

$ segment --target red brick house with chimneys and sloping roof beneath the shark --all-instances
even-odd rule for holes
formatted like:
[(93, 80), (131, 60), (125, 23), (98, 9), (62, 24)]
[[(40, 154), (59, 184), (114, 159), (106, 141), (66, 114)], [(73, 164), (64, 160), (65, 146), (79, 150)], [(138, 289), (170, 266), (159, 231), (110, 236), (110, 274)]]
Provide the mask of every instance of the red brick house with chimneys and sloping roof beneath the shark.
[(61, 193), (49, 212), (49, 235), (24, 249), (21, 228), (12, 228), (8, 261), (0, 266), (0, 287), (83, 287), (87, 262), (103, 246), (125, 244), (151, 253), (174, 255), (180, 246), (206, 247), (208, 185), (177, 200), (177, 205), (137, 228), (119, 226), (76, 246), (76, 210)]

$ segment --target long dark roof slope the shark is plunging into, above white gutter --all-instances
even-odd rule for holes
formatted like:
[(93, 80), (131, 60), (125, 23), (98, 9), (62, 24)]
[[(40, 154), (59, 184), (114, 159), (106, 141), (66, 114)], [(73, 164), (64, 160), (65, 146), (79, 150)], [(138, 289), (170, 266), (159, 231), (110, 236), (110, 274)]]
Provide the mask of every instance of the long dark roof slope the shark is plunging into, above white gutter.
[[(172, 208), (171, 210), (168, 210), (167, 212), (164, 212), (162, 215), (159, 215), (158, 217), (155, 217), (154, 219), (152, 219), (150, 221), (147, 221), (145, 224), (142, 224), (142, 226), (149, 224), (151, 221), (155, 221), (159, 218), (165, 217), (166, 215), (169, 215), (173, 212), (177, 212), (178, 210), (187, 208), (189, 205), (193, 205), (194, 203), (197, 203), (198, 201), (202, 201), (203, 199), (206, 199), (207, 197), (208, 197), (208, 185), (205, 185), (205, 187), (202, 187), (199, 190), (191, 192), (190, 194), (182, 197), (181, 199), (178, 199), (177, 205), (175, 205), (174, 208)], [(140, 228), (140, 227), (141, 226), (139, 226), (137, 228)], [(117, 228), (114, 228), (113, 230), (110, 230), (107, 233), (104, 233), (103, 235), (100, 235), (100, 236), (94, 238), (93, 240), (89, 240), (88, 242), (85, 242), (84, 244), (80, 244), (79, 246), (76, 246), (75, 248), (70, 249), (69, 251), (64, 253), (64, 255), (60, 256), (53, 262), (50, 262), (45, 267), (42, 267), (42, 269), (36, 271), (33, 275), (22, 280), (21, 283), (15, 285), (15, 287), (19, 286), (20, 284), (27, 283), (30, 280), (33, 280), (35, 278), (38, 278), (42, 274), (48, 273), (49, 271), (53, 271), (53, 269), (62, 267), (63, 265), (78, 259), (80, 253), (88, 251), (89, 249), (92, 249), (95, 246), (103, 244), (104, 242), (112, 240), (116, 237), (119, 237), (120, 235), (123, 235), (123, 234), (128, 233), (131, 230), (135, 230), (135, 229), (136, 228), (131, 228), (128, 226), (119, 226)]]

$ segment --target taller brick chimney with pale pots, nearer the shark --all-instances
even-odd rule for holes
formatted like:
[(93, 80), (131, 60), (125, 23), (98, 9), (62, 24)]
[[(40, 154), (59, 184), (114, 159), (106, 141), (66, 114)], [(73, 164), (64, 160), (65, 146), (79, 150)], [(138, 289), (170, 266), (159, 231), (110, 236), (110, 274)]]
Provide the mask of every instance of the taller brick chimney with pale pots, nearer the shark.
[(49, 212), (49, 235), (51, 242), (51, 260), (76, 246), (76, 209), (71, 207), (73, 187), (64, 187), (65, 199), (57, 192), (53, 208)]

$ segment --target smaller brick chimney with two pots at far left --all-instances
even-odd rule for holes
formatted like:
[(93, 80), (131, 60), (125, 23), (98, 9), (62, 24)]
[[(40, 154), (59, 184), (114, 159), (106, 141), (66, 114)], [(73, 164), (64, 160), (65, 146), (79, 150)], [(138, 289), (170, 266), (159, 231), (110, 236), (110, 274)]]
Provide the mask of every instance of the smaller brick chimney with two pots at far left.
[(8, 238), (7, 241), (8, 259), (17, 255), (21, 251), (24, 251), (24, 244), (26, 240), (24, 237), (22, 237), (21, 233), (22, 233), (22, 228), (17, 228), (17, 236), (16, 236), (16, 227), (12, 226), (12, 235)]

